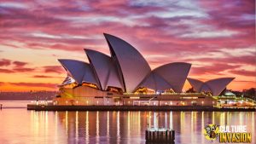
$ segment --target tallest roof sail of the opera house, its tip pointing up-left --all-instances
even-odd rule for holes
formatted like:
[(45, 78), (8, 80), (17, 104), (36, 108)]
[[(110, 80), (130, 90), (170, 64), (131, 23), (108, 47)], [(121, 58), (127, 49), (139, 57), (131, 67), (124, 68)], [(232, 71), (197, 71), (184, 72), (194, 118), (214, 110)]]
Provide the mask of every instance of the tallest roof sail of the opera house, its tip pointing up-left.
[(143, 58), (137, 49), (119, 37), (104, 33), (108, 46), (122, 75), (126, 92), (133, 92), (138, 84), (151, 72), (148, 62)]

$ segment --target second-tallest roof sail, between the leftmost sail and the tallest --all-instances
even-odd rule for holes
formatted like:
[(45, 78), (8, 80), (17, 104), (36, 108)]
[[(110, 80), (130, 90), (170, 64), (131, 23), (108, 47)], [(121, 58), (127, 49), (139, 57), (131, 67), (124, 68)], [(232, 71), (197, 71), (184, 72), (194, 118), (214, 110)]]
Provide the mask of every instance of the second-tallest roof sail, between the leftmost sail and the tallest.
[(90, 60), (90, 65), (96, 72), (97, 78), (99, 78), (103, 90), (108, 89), (108, 86), (123, 89), (117, 67), (110, 56), (92, 49), (84, 49), (84, 51)]

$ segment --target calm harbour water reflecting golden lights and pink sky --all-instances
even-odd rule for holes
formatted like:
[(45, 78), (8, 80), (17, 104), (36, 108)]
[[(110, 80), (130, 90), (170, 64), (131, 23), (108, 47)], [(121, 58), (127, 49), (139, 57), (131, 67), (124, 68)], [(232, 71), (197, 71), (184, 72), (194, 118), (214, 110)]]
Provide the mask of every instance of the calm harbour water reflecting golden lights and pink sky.
[[(255, 141), (256, 112), (34, 112), (0, 111), (0, 143), (145, 143), (147, 124), (172, 128), (175, 143), (218, 143), (202, 134), (207, 124), (247, 125)], [(150, 119), (150, 120), (149, 120)]]

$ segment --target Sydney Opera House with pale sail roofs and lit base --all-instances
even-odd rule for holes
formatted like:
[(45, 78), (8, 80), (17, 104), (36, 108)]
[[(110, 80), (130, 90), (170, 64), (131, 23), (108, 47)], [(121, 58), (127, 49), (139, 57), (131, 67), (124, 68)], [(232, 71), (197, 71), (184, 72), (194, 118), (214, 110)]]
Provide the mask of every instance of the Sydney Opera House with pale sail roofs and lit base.
[[(104, 33), (110, 55), (84, 49), (83, 60), (59, 60), (67, 78), (59, 85), (58, 105), (214, 106), (234, 78), (207, 82), (188, 78), (191, 64), (173, 62), (151, 69), (137, 49), (119, 37)], [(188, 80), (195, 90), (184, 93)]]

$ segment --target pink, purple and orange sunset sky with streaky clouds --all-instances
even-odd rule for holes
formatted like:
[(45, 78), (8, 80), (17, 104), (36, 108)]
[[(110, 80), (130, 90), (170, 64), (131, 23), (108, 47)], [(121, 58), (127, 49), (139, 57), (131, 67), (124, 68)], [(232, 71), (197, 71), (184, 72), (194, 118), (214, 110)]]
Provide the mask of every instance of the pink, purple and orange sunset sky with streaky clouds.
[(103, 32), (152, 69), (189, 62), (189, 78), (256, 87), (254, 0), (1, 0), (0, 91), (56, 90), (67, 75), (57, 59), (88, 61), (84, 48), (109, 55)]

